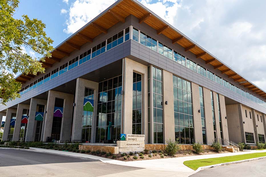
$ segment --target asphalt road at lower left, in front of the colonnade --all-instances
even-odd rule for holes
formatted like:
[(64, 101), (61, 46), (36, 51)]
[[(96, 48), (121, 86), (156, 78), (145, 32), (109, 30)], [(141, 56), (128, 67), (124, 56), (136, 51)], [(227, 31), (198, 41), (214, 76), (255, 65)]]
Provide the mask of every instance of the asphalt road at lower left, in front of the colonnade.
[(0, 149), (0, 176), (103, 176), (125, 172), (130, 174), (140, 169), (142, 168), (108, 164), (91, 159)]

